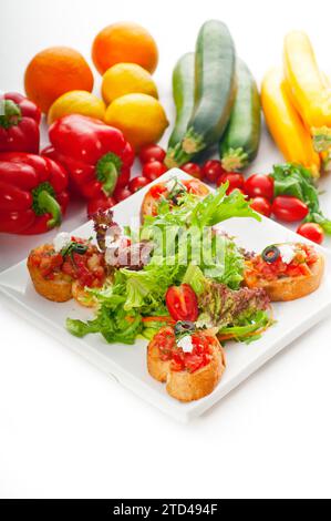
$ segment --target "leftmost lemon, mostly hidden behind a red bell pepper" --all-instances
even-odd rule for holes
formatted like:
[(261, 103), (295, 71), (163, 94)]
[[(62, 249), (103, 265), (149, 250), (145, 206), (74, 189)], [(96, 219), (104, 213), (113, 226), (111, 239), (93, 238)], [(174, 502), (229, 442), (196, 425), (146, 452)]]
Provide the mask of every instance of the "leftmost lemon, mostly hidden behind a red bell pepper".
[(69, 114), (82, 114), (103, 120), (104, 113), (105, 104), (96, 95), (87, 91), (70, 91), (54, 101), (49, 111), (48, 123), (51, 124)]

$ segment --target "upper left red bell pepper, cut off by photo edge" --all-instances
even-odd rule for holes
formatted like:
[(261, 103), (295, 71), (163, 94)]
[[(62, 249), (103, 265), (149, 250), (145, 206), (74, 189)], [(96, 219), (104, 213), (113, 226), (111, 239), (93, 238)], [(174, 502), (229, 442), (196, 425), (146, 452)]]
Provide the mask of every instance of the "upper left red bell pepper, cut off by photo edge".
[(0, 152), (39, 153), (40, 109), (28, 98), (9, 92), (0, 98)]

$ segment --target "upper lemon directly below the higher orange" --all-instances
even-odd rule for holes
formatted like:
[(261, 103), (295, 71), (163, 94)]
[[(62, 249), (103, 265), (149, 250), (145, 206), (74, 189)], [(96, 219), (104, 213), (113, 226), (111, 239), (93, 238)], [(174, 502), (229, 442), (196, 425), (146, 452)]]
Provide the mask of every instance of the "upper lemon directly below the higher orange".
[(111, 67), (103, 75), (101, 92), (106, 104), (135, 92), (158, 98), (149, 72), (136, 63), (116, 63)]

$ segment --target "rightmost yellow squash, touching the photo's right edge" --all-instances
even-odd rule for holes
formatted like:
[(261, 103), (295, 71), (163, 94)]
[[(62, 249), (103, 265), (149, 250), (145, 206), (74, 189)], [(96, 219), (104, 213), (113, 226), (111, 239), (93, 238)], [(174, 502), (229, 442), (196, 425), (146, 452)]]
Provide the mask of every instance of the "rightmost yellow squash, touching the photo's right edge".
[(331, 143), (331, 89), (320, 71), (308, 35), (292, 31), (285, 38), (283, 71), (292, 103), (321, 152)]

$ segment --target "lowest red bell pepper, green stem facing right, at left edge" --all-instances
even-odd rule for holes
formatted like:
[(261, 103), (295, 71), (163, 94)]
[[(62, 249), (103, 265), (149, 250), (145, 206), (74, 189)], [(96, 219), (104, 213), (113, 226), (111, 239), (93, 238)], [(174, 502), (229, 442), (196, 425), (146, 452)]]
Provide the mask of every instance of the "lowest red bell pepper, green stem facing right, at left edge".
[(34, 154), (0, 154), (0, 232), (32, 235), (59, 226), (69, 195), (68, 173)]

